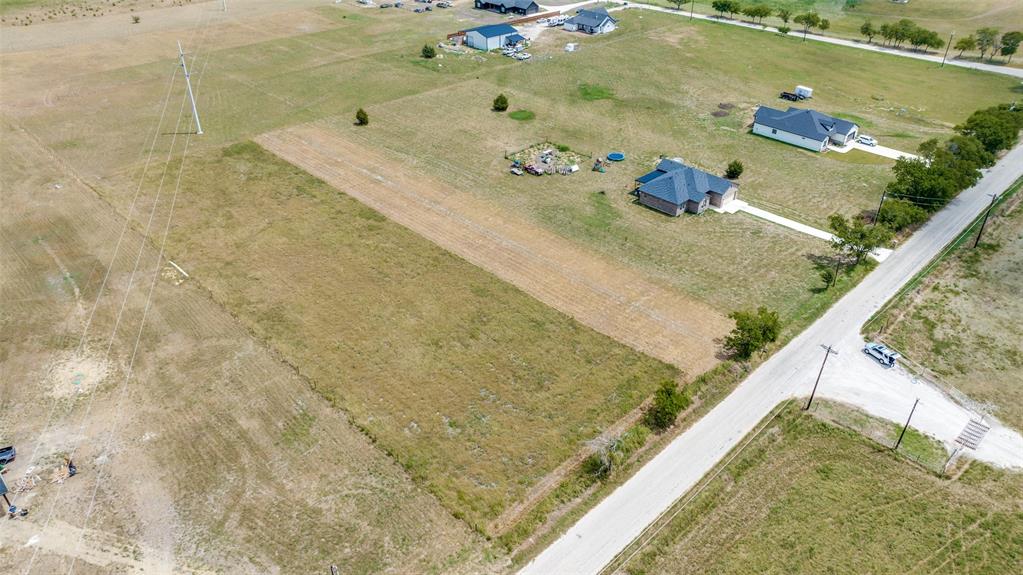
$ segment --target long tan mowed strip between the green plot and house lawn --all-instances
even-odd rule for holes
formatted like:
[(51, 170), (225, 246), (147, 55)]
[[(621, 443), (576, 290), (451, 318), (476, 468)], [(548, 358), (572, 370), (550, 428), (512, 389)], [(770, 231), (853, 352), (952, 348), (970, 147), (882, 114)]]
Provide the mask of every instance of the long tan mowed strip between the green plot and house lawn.
[(634, 269), (315, 125), (256, 141), (602, 334), (690, 374), (717, 363), (715, 340), (727, 331), (727, 319)]

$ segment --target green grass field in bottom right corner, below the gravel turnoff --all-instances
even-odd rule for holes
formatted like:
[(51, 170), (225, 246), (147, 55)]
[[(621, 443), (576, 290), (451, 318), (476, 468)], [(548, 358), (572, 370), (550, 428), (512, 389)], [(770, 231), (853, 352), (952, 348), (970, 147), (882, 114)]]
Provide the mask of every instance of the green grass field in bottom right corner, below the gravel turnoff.
[(625, 566), (654, 573), (1013, 573), (1023, 475), (942, 479), (792, 405)]

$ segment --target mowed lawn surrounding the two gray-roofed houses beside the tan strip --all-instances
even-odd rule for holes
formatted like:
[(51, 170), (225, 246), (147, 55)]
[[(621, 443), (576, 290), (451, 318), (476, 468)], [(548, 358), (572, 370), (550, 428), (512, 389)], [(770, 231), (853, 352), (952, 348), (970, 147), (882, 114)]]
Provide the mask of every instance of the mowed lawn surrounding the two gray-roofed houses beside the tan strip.
[[(716, 173), (741, 159), (743, 198), (825, 227), (835, 211), (875, 207), (892, 162), (858, 151), (816, 154), (753, 136), (747, 126), (758, 102), (782, 105), (777, 91), (805, 82), (817, 88), (817, 108), (854, 118), (879, 137), (898, 134), (886, 143), (914, 149), (949, 133), (977, 98), (1011, 99), (1015, 85), (970, 71), (938, 76), (930, 64), (667, 14), (625, 12), (621, 20), (615, 34), (581, 38), (573, 53), (562, 45), (577, 36), (547, 31), (529, 63), (498, 59), (479, 71), (479, 80), (445, 87), (442, 97), (430, 92), (369, 108), (375, 119), (369, 130), (353, 130), (348, 118), (333, 121), (335, 129), (723, 312), (766, 304), (792, 321), (827, 305), (826, 295), (812, 291), (818, 278), (811, 261), (826, 244), (743, 215), (666, 218), (634, 204), (627, 193), (632, 180), (660, 154)], [(756, 64), (742, 51), (719, 49), (730, 44), (755, 51)], [(652, 74), (635, 65), (639, 54), (674, 63)], [(976, 90), (977, 83), (990, 91)], [(498, 93), (514, 108), (533, 110), (535, 120), (509, 123), (491, 113)], [(711, 116), (721, 103), (735, 107), (724, 118)], [(509, 176), (504, 154), (543, 140), (593, 157), (620, 150), (627, 160), (606, 174), (589, 172), (584, 162), (567, 178)], [(736, 274), (740, 269), (744, 276)]]

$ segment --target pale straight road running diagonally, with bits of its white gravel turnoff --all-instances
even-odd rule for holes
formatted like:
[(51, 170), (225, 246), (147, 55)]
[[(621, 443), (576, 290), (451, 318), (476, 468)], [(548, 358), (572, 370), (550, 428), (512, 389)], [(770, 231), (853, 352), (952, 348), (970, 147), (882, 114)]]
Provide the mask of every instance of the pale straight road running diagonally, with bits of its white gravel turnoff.
[[(964, 191), (935, 214), (859, 285), (756, 369), (731, 395), (593, 507), (521, 573), (599, 572), (643, 528), (696, 485), (775, 405), (787, 398), (809, 394), (822, 358), (821, 344), (838, 346), (843, 353), (840, 357), (861, 356), (858, 351), (860, 326), (983, 212), (990, 202), (988, 193), (1003, 191), (1021, 176), (1023, 146), (1015, 148), (975, 187)], [(826, 387), (827, 382), (821, 386)], [(835, 393), (845, 400), (857, 402), (854, 392)], [(917, 393), (909, 389), (897, 397), (889, 395), (886, 401), (896, 408), (878, 405), (877, 398), (862, 406), (880, 416), (893, 417), (897, 411), (898, 417), (903, 417)], [(939, 394), (929, 394), (925, 403), (935, 412), (952, 409), (949, 407), (951, 401)], [(922, 412), (921, 421), (925, 419), (928, 427), (936, 425), (934, 417), (924, 417)], [(958, 433), (954, 428), (961, 424), (961, 421), (947, 422), (945, 428)], [(1017, 456), (1023, 453), (1023, 439), (1005, 428), (992, 430), (984, 442), (976, 456), (984, 457), (989, 452)], [(998, 460), (997, 457), (991, 459)]]

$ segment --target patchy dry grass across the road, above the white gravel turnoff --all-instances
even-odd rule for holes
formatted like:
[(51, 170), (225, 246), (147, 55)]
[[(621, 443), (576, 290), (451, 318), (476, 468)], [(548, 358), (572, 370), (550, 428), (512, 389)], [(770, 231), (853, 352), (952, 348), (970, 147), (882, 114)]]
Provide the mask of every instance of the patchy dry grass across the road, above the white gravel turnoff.
[(1023, 428), (1023, 195), (995, 212), (973, 238), (889, 312), (884, 338), (916, 363), (993, 414)]

